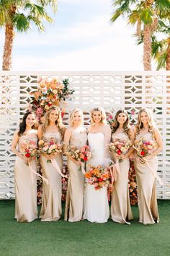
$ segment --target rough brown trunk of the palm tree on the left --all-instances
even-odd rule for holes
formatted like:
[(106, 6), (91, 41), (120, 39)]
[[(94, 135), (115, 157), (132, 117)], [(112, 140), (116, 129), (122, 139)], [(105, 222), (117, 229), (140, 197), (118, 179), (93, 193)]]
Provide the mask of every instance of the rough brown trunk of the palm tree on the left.
[(12, 68), (13, 41), (14, 41), (14, 27), (12, 24), (6, 24), (2, 70), (10, 70)]

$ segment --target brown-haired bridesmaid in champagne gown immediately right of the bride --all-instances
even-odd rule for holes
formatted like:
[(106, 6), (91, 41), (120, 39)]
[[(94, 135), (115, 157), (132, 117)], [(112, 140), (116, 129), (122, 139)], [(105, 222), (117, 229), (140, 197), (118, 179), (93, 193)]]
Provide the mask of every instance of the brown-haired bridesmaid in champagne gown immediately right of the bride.
[[(112, 140), (131, 140), (133, 143), (133, 130), (130, 128), (128, 113), (125, 110), (117, 111), (115, 115), (115, 126), (113, 127)], [(114, 184), (111, 202), (112, 220), (117, 223), (127, 223), (133, 219), (130, 207), (130, 196), (128, 189), (128, 171), (130, 168), (129, 155), (133, 153), (133, 148), (120, 155), (122, 162), (119, 163), (120, 173), (117, 173), (117, 180)], [(112, 153), (112, 160), (117, 160), (117, 155)]]

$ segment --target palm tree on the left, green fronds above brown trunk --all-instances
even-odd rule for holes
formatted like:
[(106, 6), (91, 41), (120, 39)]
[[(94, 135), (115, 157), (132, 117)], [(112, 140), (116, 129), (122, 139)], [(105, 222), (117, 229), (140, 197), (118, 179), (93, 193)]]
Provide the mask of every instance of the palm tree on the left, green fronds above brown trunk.
[(3, 54), (3, 70), (12, 67), (12, 47), (14, 43), (14, 31), (27, 32), (31, 24), (35, 24), (38, 30), (43, 31), (43, 20), (52, 22), (51, 17), (45, 11), (45, 7), (52, 7), (55, 12), (57, 0), (0, 0), (0, 27), (5, 29), (5, 43)]

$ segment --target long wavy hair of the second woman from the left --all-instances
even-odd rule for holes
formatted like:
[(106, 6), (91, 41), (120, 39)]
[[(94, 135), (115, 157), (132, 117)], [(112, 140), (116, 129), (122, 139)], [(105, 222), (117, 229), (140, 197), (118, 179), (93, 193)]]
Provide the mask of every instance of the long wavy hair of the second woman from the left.
[(63, 137), (66, 127), (63, 125), (63, 120), (61, 117), (61, 110), (57, 106), (51, 106), (50, 109), (45, 113), (44, 121), (42, 124), (42, 134), (44, 134), (46, 132), (47, 127), (50, 124), (49, 116), (53, 110), (58, 111), (58, 119), (55, 121), (55, 124), (58, 127), (58, 131), (61, 132), (61, 135)]

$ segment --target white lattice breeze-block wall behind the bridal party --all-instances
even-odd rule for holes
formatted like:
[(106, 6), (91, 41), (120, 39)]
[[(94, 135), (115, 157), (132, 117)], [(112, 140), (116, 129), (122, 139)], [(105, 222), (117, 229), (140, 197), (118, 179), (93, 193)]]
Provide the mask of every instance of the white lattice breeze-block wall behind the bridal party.
[[(170, 199), (170, 72), (0, 72), (1, 199), (14, 198), (15, 156), (10, 151), (10, 144), (40, 76), (69, 79), (75, 93), (66, 109), (81, 108), (86, 124), (94, 106), (103, 106), (113, 114), (120, 108), (129, 113), (135, 108), (135, 116), (141, 107), (151, 108), (164, 142), (163, 151), (158, 156), (158, 175), (164, 186), (157, 184), (157, 195)], [(67, 114), (65, 122), (68, 123)]]

